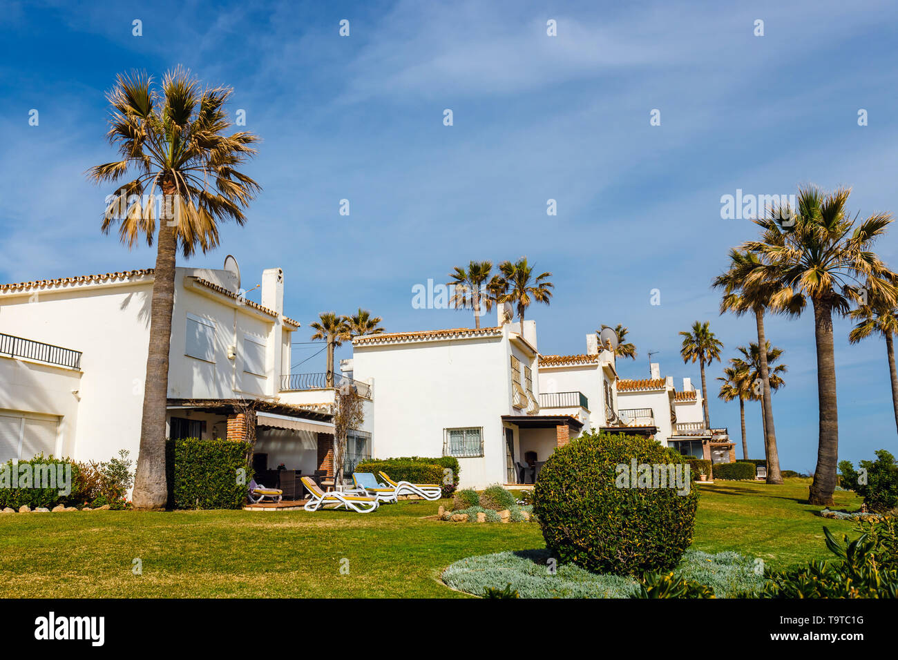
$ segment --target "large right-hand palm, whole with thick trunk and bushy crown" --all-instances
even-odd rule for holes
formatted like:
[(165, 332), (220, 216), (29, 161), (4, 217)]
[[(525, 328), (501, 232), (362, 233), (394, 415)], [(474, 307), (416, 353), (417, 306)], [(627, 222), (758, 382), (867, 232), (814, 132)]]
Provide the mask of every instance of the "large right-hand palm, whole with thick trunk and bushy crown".
[(762, 265), (748, 276), (749, 284), (771, 283), (779, 290), (770, 298), (771, 309), (788, 309), (795, 299), (809, 299), (814, 307), (814, 341), (817, 348), (817, 397), (820, 435), (817, 467), (808, 502), (832, 505), (838, 484), (839, 413), (836, 370), (832, 349), (832, 313), (846, 314), (851, 300), (859, 300), (866, 279), (867, 295), (883, 304), (896, 304), (894, 273), (871, 248), (892, 222), (877, 213), (858, 223), (846, 207), (850, 189), (826, 194), (814, 186), (798, 190), (797, 209), (780, 207), (770, 216), (755, 220), (762, 228), (757, 241), (744, 249), (757, 253)]

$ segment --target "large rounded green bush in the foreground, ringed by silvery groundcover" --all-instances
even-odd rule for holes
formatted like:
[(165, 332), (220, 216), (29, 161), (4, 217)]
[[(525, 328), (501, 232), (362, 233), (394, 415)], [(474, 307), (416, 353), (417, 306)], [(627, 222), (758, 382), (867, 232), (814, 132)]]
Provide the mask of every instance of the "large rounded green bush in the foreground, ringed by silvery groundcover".
[(534, 488), (533, 514), (561, 562), (619, 575), (676, 566), (692, 540), (699, 491), (689, 483), (682, 495), (638, 483), (619, 488), (633, 461), (659, 471), (682, 464), (654, 440), (603, 432), (551, 454)]

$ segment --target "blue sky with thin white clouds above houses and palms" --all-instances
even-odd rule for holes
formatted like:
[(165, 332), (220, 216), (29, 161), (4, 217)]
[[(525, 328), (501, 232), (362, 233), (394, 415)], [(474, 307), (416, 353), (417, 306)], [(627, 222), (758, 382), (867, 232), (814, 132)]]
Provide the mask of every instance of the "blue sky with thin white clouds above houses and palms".
[[(413, 309), (411, 287), (471, 259), (525, 254), (556, 285), (550, 307), (528, 312), (541, 352), (583, 352), (587, 332), (620, 322), (638, 348), (635, 363), (619, 363), (623, 377), (647, 375), (651, 349), (664, 374), (699, 383), (679, 357), (679, 330), (711, 321), (726, 356), (754, 339), (753, 320), (719, 316), (709, 289), (727, 249), (755, 233), (721, 219), (722, 195), (813, 182), (851, 186), (862, 216), (898, 210), (896, 14), (886, 2), (819, 0), (7, 2), (0, 280), (152, 266), (152, 251), (100, 233), (110, 188), (84, 171), (114, 157), (103, 93), (115, 76), (180, 64), (232, 85), (232, 112), (246, 110), (263, 139), (246, 168), (264, 188), (248, 223), (225, 225), (221, 247), (189, 263), (217, 268), (233, 253), (246, 288), (262, 268), (283, 267), (286, 312), (304, 324), (296, 341), (319, 312), (360, 305), (387, 330), (472, 324), (470, 312)], [(653, 109), (660, 126), (649, 125)], [(339, 215), (343, 198), (350, 216)], [(557, 216), (546, 215), (549, 198)], [(877, 248), (893, 267), (896, 236)], [(857, 461), (898, 448), (885, 342), (850, 347), (848, 330), (837, 321), (840, 454)], [(813, 318), (772, 319), (768, 335), (789, 367), (773, 400), (782, 466), (813, 471)], [(318, 349), (297, 345), (294, 362)], [(296, 367), (322, 369), (323, 354)], [(739, 443), (738, 405), (710, 406)], [(759, 404), (747, 421), (761, 457)]]

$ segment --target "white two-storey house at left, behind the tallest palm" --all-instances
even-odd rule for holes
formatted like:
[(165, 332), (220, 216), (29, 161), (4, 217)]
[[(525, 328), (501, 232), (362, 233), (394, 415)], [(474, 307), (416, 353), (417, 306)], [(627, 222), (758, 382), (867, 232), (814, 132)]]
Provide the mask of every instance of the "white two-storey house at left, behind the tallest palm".
[[(0, 286), (0, 462), (106, 461), (120, 449), (136, 459), (153, 278), (147, 268)], [(244, 295), (233, 258), (177, 268), (168, 435), (246, 436), (249, 402), (257, 470), (332, 471), (334, 389), (324, 374), (290, 374), (299, 322), (283, 312), (283, 270), (263, 271), (260, 289), (259, 303)], [(357, 436), (370, 453), (370, 435)]]

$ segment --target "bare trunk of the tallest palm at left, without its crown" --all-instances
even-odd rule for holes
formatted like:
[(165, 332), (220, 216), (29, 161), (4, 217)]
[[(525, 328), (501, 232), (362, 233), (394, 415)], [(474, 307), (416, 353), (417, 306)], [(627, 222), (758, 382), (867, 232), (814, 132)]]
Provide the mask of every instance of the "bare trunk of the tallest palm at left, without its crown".
[[(163, 189), (173, 195), (173, 189)], [(140, 453), (134, 480), (136, 509), (161, 509), (168, 499), (165, 476), (165, 414), (168, 405), (169, 348), (172, 340), (175, 250), (172, 227), (160, 221), (156, 243), (153, 299), (150, 304), (150, 340), (146, 356), (144, 411), (140, 423)]]

